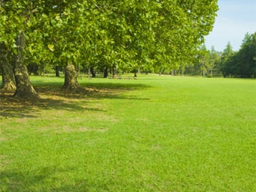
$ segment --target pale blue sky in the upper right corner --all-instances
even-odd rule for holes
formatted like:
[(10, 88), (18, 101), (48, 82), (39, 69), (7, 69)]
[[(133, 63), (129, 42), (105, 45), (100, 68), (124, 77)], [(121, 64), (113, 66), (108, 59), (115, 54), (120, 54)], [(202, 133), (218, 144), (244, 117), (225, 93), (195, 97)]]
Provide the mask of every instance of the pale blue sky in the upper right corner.
[(222, 51), (230, 41), (233, 50), (239, 50), (247, 32), (256, 32), (256, 0), (219, 0), (214, 29), (206, 36), (207, 49)]

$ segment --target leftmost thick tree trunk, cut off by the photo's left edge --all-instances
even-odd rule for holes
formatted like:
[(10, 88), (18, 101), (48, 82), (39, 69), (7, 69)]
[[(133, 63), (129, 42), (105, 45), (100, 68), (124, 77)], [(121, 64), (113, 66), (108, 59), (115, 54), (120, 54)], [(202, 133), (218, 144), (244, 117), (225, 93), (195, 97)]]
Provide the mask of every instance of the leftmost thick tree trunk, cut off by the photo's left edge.
[(9, 51), (4, 44), (0, 44), (0, 67), (2, 70), (2, 87), (4, 90), (16, 90), (14, 74)]

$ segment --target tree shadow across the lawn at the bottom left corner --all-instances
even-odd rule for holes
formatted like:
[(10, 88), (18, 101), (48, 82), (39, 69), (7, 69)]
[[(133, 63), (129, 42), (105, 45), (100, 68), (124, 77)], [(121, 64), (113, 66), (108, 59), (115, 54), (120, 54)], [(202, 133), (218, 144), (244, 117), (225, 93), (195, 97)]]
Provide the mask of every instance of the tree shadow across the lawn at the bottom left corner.
[(0, 171), (0, 191), (88, 191), (90, 188), (109, 191), (106, 181), (67, 178), (72, 171), (76, 168), (48, 166), (26, 172)]

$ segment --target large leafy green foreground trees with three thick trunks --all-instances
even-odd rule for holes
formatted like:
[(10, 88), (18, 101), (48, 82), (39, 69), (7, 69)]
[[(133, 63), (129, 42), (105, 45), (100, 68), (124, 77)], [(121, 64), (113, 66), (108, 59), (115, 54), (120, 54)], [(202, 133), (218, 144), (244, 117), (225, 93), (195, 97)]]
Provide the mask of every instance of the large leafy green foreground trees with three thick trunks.
[(212, 30), (217, 0), (0, 0), (2, 87), (38, 98), (27, 65), (65, 68), (79, 87), (80, 65), (102, 69), (179, 69)]

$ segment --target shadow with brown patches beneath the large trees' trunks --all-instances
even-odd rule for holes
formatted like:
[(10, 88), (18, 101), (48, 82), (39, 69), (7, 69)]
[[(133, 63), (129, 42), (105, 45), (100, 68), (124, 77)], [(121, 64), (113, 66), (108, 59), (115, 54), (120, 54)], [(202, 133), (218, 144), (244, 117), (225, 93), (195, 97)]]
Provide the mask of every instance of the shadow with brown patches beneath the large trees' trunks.
[(74, 92), (63, 90), (59, 85), (43, 84), (34, 88), (41, 95), (39, 100), (21, 100), (13, 97), (14, 92), (0, 91), (0, 117), (37, 117), (41, 110), (59, 109), (68, 111), (104, 111), (99, 108), (79, 105), (77, 100), (86, 101), (109, 99), (129, 99), (129, 100), (149, 100), (149, 98), (136, 97), (136, 95), (126, 96), (123, 93), (130, 90), (140, 90), (147, 88), (143, 84), (112, 84), (112, 83), (89, 83), (81, 84), (80, 89)]

